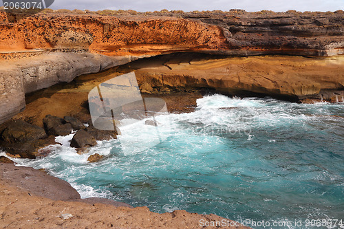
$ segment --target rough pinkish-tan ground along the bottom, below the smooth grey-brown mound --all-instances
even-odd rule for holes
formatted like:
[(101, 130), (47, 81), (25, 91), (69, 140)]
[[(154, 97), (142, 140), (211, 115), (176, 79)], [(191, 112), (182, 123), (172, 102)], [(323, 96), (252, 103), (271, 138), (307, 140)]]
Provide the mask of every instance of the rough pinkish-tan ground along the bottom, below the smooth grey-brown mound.
[[(0, 169), (1, 167), (2, 164)], [(25, 177), (25, 174), (21, 173), (21, 175)], [(13, 177), (12, 179), (16, 178)], [(85, 200), (86, 203), (80, 203), (74, 201), (74, 199), (70, 201), (53, 201), (52, 199), (33, 195), (32, 192), (28, 191), (30, 186), (28, 188), (25, 186), (17, 188), (16, 184), (12, 183), (12, 179), (2, 179), (0, 182), (0, 193), (3, 193), (0, 198), (1, 214), (3, 215), (0, 225), (1, 223), (7, 227), (10, 225), (11, 228), (61, 228), (61, 223), (66, 228), (197, 228), (200, 225), (200, 220), (207, 221), (211, 225), (215, 225), (219, 221), (228, 221), (229, 225), (236, 225), (234, 221), (217, 215), (200, 215), (185, 210), (159, 214), (149, 211), (147, 207), (117, 207), (116, 205), (105, 204), (103, 200), (100, 200), (100, 204), (96, 203), (94, 199), (87, 199)], [(34, 179), (30, 177), (25, 181), (25, 184), (28, 181), (34, 181)], [(40, 182), (33, 183), (35, 186), (41, 184)], [(11, 186), (11, 184), (13, 185)], [(61, 190), (61, 188), (63, 186), (56, 184), (53, 188), (48, 188), (48, 190)], [(44, 193), (44, 190), (41, 191)], [(63, 192), (61, 194), (64, 194)], [(19, 214), (20, 217), (18, 217)], [(71, 214), (74, 217), (63, 221), (61, 219), (62, 214)], [(117, 219), (114, 220), (114, 217)], [(213, 229), (216, 227), (209, 226), (207, 228)], [(248, 229), (248, 227), (244, 226), (224, 228)]]

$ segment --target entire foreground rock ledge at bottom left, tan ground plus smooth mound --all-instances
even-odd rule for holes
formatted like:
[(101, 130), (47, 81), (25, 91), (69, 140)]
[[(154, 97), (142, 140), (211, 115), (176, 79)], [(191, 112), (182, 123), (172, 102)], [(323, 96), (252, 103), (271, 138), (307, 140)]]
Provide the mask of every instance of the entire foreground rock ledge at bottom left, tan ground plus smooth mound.
[(159, 214), (109, 199), (80, 199), (67, 182), (13, 164), (0, 164), (0, 211), (0, 228), (200, 228), (200, 222), (221, 221), (228, 222), (222, 228), (248, 228), (212, 214)]

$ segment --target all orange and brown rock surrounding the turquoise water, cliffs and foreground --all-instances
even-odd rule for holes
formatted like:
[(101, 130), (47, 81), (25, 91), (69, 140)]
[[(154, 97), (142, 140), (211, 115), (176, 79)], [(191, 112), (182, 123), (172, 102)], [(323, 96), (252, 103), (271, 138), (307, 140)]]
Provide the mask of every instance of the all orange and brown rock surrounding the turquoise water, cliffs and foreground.
[[(197, 98), (214, 92), (344, 102), (343, 15), (233, 11), (9, 18), (0, 12), (0, 147), (12, 157), (35, 158), (49, 154), (44, 146), (72, 130), (78, 153), (96, 140), (116, 138), (114, 131), (92, 127), (87, 95), (132, 71), (143, 97), (162, 98), (173, 112), (193, 111)], [(89, 162), (101, 159), (92, 155)], [(80, 200), (69, 184), (41, 171), (0, 164), (0, 172), (3, 228), (195, 228), (200, 219), (223, 219)]]

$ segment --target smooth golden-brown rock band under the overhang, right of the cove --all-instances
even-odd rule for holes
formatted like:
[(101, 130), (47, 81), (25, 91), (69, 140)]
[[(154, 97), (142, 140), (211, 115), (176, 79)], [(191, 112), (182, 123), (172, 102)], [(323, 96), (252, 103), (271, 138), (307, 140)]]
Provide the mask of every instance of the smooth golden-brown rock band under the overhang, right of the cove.
[(207, 88), (231, 96), (256, 94), (294, 101), (321, 99), (321, 95), (324, 100), (330, 100), (335, 91), (340, 97), (344, 94), (344, 58), (341, 56), (257, 56), (208, 60), (189, 56), (181, 60), (181, 57), (162, 56), (153, 64), (142, 60), (130, 66), (137, 69), (139, 85), (149, 85), (158, 90), (166, 87)]

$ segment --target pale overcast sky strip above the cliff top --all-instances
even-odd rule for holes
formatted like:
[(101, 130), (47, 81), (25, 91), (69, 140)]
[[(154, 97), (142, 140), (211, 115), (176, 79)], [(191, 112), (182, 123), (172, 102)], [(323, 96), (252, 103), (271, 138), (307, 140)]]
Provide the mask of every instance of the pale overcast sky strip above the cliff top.
[[(3, 6), (2, 2), (0, 6)], [(344, 10), (344, 0), (55, 0), (50, 8), (79, 10), (224, 10), (243, 9), (246, 11), (287, 10), (298, 11), (336, 11)]]

